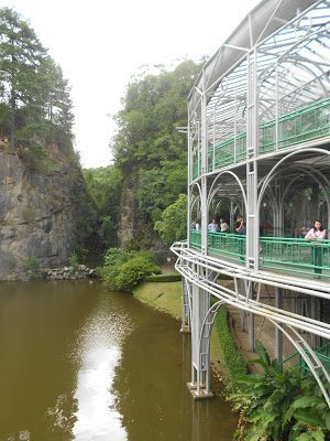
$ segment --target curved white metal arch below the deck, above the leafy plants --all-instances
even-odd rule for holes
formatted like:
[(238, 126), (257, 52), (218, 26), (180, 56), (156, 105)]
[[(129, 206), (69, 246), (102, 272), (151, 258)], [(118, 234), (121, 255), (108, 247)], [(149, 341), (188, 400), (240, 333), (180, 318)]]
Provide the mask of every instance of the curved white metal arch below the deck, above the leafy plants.
[(327, 401), (327, 405), (330, 408), (330, 397), (327, 392), (327, 389), (324, 388), (316, 368), (315, 365), (311, 363), (311, 359), (308, 357), (308, 355), (306, 354), (306, 352), (301, 348), (301, 346), (299, 344), (297, 344), (299, 341), (304, 344), (304, 346), (306, 347), (306, 349), (308, 351), (308, 354), (311, 356), (312, 361), (317, 363), (317, 368), (320, 368), (322, 370), (322, 374), (324, 375), (324, 377), (327, 378), (327, 380), (330, 383), (330, 376), (327, 372), (327, 369), (324, 368), (324, 366), (322, 365), (322, 363), (320, 363), (320, 361), (316, 357), (312, 348), (308, 345), (308, 343), (301, 338), (301, 335), (299, 335), (297, 333), (297, 331), (293, 327), (293, 326), (288, 326), (288, 329), (290, 330), (290, 332), (293, 332), (295, 335), (297, 335), (297, 337), (299, 338), (298, 341), (295, 341), (290, 334), (288, 332), (286, 332), (284, 330), (284, 327), (282, 325), (279, 325), (278, 323), (274, 322), (273, 320), (268, 319), (270, 322), (272, 322), (289, 341), (290, 343), (295, 346), (295, 348), (297, 349), (297, 352), (300, 354), (300, 356), (304, 358), (305, 363), (307, 364), (307, 366), (309, 367), (310, 372), (312, 373), (315, 379), (317, 380), (322, 395)]

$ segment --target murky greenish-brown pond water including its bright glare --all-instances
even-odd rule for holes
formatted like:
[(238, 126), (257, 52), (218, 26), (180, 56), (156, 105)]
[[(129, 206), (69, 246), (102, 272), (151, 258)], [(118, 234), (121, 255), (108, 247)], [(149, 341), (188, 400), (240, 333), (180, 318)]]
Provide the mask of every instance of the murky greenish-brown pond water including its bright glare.
[(178, 330), (99, 282), (0, 283), (0, 441), (232, 440), (228, 404), (188, 391)]

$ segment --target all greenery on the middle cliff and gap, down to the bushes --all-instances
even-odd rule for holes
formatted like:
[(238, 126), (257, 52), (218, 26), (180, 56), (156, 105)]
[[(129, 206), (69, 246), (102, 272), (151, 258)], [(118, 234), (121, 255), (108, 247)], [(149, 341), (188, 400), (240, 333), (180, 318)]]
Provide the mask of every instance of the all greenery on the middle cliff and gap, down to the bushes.
[(161, 244), (158, 235), (166, 245), (185, 237), (187, 140), (177, 127), (186, 125), (186, 98), (199, 69), (184, 61), (173, 72), (161, 67), (128, 85), (110, 142), (113, 165), (84, 171), (103, 249), (117, 246), (119, 226), (132, 232), (122, 237), (125, 248), (148, 249)]

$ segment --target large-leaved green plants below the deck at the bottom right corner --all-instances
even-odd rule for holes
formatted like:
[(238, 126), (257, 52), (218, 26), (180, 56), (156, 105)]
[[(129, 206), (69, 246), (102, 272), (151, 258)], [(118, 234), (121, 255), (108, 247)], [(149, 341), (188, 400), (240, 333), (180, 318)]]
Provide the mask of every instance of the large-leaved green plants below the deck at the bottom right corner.
[[(312, 375), (297, 367), (283, 370), (257, 342), (262, 374), (241, 375), (228, 399), (239, 411), (238, 441), (324, 441), (330, 410)], [(327, 381), (324, 381), (326, 384)], [(328, 390), (329, 391), (329, 390)]]

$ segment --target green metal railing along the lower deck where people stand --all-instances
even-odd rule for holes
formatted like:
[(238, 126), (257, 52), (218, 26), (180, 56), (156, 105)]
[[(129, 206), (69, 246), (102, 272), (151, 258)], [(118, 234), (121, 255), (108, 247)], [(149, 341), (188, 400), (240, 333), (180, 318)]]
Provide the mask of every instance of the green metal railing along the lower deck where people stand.
[[(208, 252), (230, 261), (245, 261), (246, 237), (208, 233)], [(330, 279), (330, 240), (260, 237), (260, 268)], [(190, 230), (190, 247), (200, 249), (200, 230)]]

